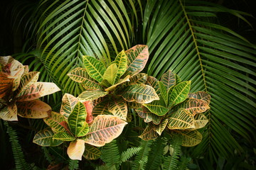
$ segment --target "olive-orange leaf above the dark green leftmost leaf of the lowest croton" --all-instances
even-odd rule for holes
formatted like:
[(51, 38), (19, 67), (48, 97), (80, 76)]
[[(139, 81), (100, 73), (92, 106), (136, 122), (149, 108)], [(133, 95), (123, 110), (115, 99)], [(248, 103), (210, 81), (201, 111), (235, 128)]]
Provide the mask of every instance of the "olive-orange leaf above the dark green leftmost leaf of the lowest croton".
[(60, 115), (60, 113), (52, 111), (48, 118), (44, 118), (43, 121), (50, 126), (53, 132), (65, 132), (65, 128), (63, 126), (63, 121), (65, 121), (64, 115)]

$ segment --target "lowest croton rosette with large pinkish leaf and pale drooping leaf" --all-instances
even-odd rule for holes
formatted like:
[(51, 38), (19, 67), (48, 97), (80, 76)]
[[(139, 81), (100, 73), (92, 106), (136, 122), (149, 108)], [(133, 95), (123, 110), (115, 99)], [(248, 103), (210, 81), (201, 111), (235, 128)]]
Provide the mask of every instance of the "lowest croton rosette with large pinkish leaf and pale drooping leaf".
[[(70, 94), (63, 96), (60, 113), (52, 112), (45, 118), (50, 127), (39, 131), (33, 142), (43, 147), (54, 147), (63, 142), (70, 142), (68, 156), (70, 159), (97, 159), (102, 147), (118, 137), (127, 123), (114, 115), (97, 115), (88, 124), (88, 114), (92, 112), (92, 103), (81, 103)], [(95, 146), (95, 147), (93, 147)]]

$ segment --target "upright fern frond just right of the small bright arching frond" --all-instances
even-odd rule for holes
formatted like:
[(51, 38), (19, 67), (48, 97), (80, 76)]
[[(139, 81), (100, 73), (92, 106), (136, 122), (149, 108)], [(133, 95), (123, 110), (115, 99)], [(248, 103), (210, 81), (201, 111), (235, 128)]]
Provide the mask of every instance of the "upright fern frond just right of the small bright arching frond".
[(142, 141), (140, 147), (142, 149), (138, 152), (132, 164), (132, 170), (142, 169), (146, 166), (147, 158), (149, 156), (149, 151), (151, 150), (152, 140)]

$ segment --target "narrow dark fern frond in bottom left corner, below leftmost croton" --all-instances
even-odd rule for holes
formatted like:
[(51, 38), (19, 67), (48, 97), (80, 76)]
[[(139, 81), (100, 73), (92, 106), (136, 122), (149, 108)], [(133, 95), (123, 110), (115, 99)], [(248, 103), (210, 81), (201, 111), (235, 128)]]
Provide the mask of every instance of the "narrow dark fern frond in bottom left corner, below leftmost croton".
[(26, 162), (21, 145), (18, 143), (18, 136), (16, 131), (11, 128), (11, 126), (4, 121), (4, 125), (7, 127), (7, 133), (9, 134), (9, 141), (11, 142), (11, 149), (14, 154), (14, 162), (16, 169), (31, 169), (31, 166)]

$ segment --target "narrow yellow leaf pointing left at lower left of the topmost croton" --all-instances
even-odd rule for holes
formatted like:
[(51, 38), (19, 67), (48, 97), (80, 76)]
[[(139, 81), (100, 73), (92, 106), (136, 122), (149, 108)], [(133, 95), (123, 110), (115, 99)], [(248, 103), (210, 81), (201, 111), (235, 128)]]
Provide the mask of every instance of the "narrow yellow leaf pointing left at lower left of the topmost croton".
[(93, 101), (97, 98), (106, 96), (107, 94), (107, 91), (83, 91), (82, 94), (78, 96), (78, 100), (80, 102)]

